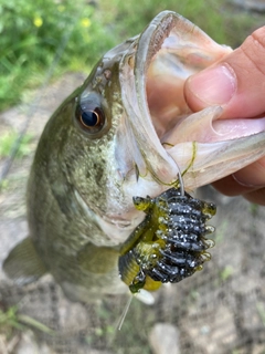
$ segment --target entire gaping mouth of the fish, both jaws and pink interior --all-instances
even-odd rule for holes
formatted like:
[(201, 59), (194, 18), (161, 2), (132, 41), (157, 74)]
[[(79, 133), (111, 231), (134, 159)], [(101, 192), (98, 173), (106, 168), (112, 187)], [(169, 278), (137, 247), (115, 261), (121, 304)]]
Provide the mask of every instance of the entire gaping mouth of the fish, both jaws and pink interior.
[(192, 113), (186, 103), (186, 80), (231, 52), (170, 11), (131, 44), (120, 63), (120, 82), (140, 175), (148, 170), (170, 184), (180, 170), (193, 189), (265, 154), (265, 117), (222, 119), (221, 106)]

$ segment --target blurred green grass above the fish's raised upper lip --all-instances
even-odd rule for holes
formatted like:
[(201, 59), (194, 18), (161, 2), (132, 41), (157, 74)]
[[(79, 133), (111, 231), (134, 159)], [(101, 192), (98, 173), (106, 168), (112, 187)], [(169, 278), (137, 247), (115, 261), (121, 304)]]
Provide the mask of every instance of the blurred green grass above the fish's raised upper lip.
[[(231, 2), (231, 1), (230, 1)], [(219, 43), (237, 46), (264, 17), (231, 7), (226, 0), (102, 0), (108, 21), (116, 18), (116, 28), (124, 37), (137, 34), (160, 11), (176, 11), (204, 30)]]

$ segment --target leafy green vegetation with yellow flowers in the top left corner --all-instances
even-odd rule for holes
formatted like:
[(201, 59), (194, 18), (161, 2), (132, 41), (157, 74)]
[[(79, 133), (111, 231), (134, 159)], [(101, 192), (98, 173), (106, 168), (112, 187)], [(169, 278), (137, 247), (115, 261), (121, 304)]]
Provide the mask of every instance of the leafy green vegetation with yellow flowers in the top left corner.
[(85, 0), (2, 0), (0, 110), (18, 103), (24, 87), (42, 83), (55, 53), (56, 74), (84, 71), (113, 44), (100, 12)]

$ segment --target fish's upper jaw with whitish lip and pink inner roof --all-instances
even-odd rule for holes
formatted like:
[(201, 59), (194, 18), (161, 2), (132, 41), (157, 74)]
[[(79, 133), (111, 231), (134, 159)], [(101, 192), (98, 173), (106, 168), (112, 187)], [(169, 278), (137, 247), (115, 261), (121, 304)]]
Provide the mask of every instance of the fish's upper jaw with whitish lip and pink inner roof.
[[(181, 15), (163, 11), (124, 55), (119, 65), (121, 97), (128, 116), (127, 129), (132, 132), (129, 134), (136, 137), (136, 145), (141, 147), (140, 155), (144, 156), (144, 162), (136, 159), (140, 176), (148, 170), (165, 185), (177, 179), (178, 163), (161, 144), (167, 126), (176, 124), (172, 106), (177, 105), (178, 116), (189, 112), (183, 98), (187, 77), (230, 52), (231, 49), (216, 44)], [(171, 106), (167, 101), (168, 93), (160, 95), (161, 83), (163, 91), (176, 91), (170, 97)], [(153, 86), (152, 92), (150, 86)], [(166, 106), (157, 107), (153, 101), (163, 101)]]

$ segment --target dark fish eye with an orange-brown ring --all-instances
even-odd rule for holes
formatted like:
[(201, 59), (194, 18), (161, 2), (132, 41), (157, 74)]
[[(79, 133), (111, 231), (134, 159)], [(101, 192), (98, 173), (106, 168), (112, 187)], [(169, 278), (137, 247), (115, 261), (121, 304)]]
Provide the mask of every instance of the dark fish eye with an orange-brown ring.
[(77, 104), (75, 117), (81, 128), (92, 134), (100, 132), (105, 124), (104, 111), (91, 103)]

